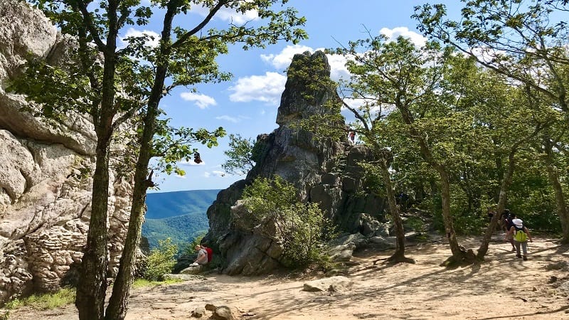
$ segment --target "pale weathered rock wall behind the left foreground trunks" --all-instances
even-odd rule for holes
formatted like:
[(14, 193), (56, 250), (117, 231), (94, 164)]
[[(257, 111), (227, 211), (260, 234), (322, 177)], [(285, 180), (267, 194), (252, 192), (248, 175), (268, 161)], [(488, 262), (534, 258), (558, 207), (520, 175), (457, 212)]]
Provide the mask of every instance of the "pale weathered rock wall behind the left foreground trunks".
[[(6, 92), (28, 54), (64, 63), (70, 38), (25, 2), (0, 1), (0, 304), (58, 289), (83, 255), (90, 217), (96, 135), (89, 117), (34, 117), (34, 105)], [(128, 178), (111, 172), (110, 268), (115, 270), (131, 202)]]

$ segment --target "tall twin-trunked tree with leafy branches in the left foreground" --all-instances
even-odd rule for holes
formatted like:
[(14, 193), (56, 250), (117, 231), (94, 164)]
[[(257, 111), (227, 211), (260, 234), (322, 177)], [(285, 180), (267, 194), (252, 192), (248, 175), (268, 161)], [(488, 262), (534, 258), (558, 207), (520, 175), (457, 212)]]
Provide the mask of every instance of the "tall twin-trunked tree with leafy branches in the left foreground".
[[(137, 170), (134, 174), (132, 203), (132, 228), (127, 235), (127, 250), (123, 253), (122, 266), (113, 290), (107, 319), (124, 319), (128, 304), (129, 285), (132, 284), (132, 260), (134, 247), (139, 241), (140, 225), (146, 190), (153, 183), (147, 174), (149, 159), (159, 155), (153, 145), (156, 134), (156, 119), (159, 117), (159, 102), (172, 88), (193, 85), (198, 82), (228, 80), (229, 74), (220, 73), (215, 58), (228, 52), (228, 44), (243, 43), (243, 48), (263, 47), (280, 40), (296, 42), (306, 35), (302, 29), (304, 18), (287, 8), (273, 11), (272, 5), (285, 4), (287, 0), (162, 0), (151, 1), (151, 6), (140, 6), (139, 0), (106, 0), (95, 4), (91, 0), (33, 0), (48, 18), (58, 24), (63, 33), (78, 39), (76, 51), (79, 63), (58, 69), (40, 65), (41, 75), (50, 83), (55, 93), (45, 95), (41, 86), (28, 85), (27, 92), (44, 105), (44, 114), (63, 114), (78, 110), (92, 115), (97, 133), (97, 163), (93, 176), (92, 213), (87, 235), (87, 247), (82, 262), (77, 300), (80, 319), (103, 319), (107, 288), (107, 189), (109, 186), (109, 147), (113, 132), (120, 124), (141, 112), (144, 124), (139, 140)], [(203, 6), (208, 14), (196, 26), (186, 30), (174, 26), (176, 16), (186, 14), (194, 7)], [(129, 38), (129, 46), (117, 48), (119, 33), (127, 25), (143, 26), (153, 14), (151, 9), (164, 12), (160, 45), (146, 46), (150, 36)], [(209, 23), (221, 9), (238, 14), (256, 11), (266, 24), (229, 23), (225, 28), (210, 28)], [(90, 43), (94, 43), (91, 46)], [(92, 63), (102, 55), (102, 64)], [(32, 68), (30, 70), (33, 70)], [(57, 86), (57, 76), (65, 82)], [(42, 78), (37, 77), (36, 78)], [(168, 82), (168, 83), (166, 83)], [(63, 102), (57, 104), (53, 102)], [(54, 110), (55, 106), (60, 107)], [(220, 130), (209, 132), (186, 132), (194, 141), (215, 145)], [(168, 136), (165, 134), (164, 136)], [(186, 146), (171, 144), (174, 155), (166, 161), (176, 161), (193, 153)], [(116, 289), (116, 290), (115, 290)]]

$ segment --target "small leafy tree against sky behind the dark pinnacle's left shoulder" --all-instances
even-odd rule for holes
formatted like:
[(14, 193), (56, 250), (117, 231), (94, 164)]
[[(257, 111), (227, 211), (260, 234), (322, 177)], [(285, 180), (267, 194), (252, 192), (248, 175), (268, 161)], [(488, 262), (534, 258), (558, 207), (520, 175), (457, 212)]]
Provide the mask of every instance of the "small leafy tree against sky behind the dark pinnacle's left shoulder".
[(229, 135), (229, 150), (223, 151), (227, 156), (227, 160), (221, 164), (221, 168), (228, 174), (243, 176), (247, 174), (253, 166), (253, 146), (255, 142), (252, 139), (245, 139), (240, 134)]

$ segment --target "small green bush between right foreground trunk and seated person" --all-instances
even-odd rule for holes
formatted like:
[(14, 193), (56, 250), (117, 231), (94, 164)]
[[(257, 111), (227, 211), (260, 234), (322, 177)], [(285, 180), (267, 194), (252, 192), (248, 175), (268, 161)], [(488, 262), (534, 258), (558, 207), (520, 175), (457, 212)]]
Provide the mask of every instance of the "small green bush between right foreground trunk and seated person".
[(176, 265), (176, 254), (178, 245), (172, 243), (170, 238), (159, 240), (158, 247), (150, 250), (147, 264), (144, 268), (144, 279), (161, 280), (162, 275), (171, 273)]

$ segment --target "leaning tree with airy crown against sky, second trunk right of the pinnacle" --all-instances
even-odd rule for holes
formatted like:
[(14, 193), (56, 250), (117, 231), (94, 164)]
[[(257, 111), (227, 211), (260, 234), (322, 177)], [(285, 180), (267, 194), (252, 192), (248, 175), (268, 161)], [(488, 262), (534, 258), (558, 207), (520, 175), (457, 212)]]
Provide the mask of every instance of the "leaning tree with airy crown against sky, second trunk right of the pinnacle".
[[(448, 166), (455, 160), (450, 144), (445, 144), (446, 127), (461, 124), (445, 103), (444, 93), (438, 93), (442, 82), (445, 60), (449, 50), (441, 50), (436, 43), (422, 50), (408, 39), (399, 37), (387, 41), (383, 36), (353, 41), (342, 50), (353, 56), (348, 63), (352, 74), (353, 92), (373, 100), (373, 106), (391, 106), (391, 114), (400, 117), (405, 132), (419, 147), (422, 159), (439, 176), (442, 200), (442, 218), (449, 240), (452, 260), (472, 260), (473, 254), (459, 246), (450, 211), (450, 178)], [(428, 128), (428, 130), (427, 130)]]

